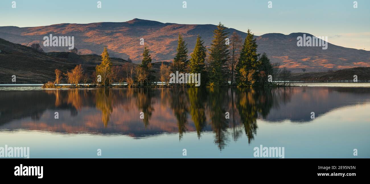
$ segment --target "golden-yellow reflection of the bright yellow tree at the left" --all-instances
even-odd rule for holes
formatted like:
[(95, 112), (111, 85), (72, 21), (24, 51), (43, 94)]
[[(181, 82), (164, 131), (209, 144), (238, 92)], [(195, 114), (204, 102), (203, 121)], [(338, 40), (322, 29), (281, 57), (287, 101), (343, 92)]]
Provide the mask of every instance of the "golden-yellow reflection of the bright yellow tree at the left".
[(101, 110), (101, 119), (104, 123), (104, 127), (107, 127), (109, 122), (109, 117), (113, 110), (112, 102), (114, 98), (112, 97), (111, 90), (109, 89), (97, 89), (95, 93), (96, 108)]

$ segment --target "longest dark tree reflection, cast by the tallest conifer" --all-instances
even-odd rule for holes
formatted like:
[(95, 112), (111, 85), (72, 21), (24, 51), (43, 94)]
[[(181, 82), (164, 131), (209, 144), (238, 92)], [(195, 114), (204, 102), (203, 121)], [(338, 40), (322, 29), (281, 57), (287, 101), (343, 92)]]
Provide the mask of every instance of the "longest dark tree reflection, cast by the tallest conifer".
[(222, 150), (228, 142), (229, 124), (225, 119), (225, 99), (227, 91), (222, 88), (210, 88), (208, 106), (211, 116), (213, 131), (215, 132), (215, 143)]

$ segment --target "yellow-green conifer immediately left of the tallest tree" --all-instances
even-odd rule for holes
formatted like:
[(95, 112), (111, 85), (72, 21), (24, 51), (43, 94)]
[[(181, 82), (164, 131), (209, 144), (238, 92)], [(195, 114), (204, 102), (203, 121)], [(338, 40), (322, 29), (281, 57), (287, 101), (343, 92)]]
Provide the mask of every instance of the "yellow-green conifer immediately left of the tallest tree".
[[(198, 35), (196, 38), (195, 48), (193, 53), (191, 53), (191, 58), (189, 62), (190, 73), (201, 74), (201, 85), (205, 84), (205, 58), (206, 58), (206, 47), (204, 46), (204, 41), (201, 40), (201, 36)], [(189, 84), (194, 86), (195, 84)]]

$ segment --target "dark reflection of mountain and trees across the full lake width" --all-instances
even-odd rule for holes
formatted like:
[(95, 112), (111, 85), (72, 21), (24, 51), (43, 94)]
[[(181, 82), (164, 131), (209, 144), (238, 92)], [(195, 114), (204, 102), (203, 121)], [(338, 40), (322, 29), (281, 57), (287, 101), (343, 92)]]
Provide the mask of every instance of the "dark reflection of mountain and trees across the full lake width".
[(310, 112), (320, 117), (369, 99), (370, 88), (328, 87), (0, 91), (0, 129), (137, 138), (178, 133), (180, 141), (186, 132), (198, 139), (212, 132), (222, 150), (242, 134), (251, 143), (259, 120), (310, 122)]

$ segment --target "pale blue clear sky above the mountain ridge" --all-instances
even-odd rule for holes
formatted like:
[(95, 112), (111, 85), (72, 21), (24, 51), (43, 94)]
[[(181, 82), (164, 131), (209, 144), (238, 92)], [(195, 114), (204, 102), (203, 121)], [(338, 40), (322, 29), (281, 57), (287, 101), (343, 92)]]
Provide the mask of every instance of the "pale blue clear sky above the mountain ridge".
[[(16, 8), (12, 8), (12, 2)], [(255, 35), (310, 33), (343, 47), (370, 50), (370, 1), (357, 0), (1, 0), (0, 26), (125, 22), (218, 24)]]

